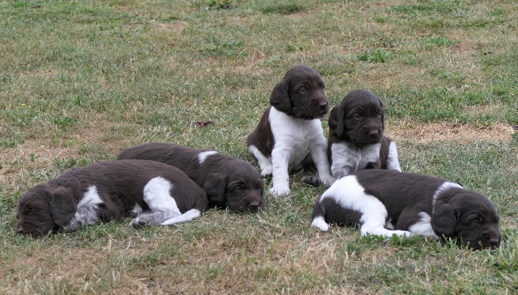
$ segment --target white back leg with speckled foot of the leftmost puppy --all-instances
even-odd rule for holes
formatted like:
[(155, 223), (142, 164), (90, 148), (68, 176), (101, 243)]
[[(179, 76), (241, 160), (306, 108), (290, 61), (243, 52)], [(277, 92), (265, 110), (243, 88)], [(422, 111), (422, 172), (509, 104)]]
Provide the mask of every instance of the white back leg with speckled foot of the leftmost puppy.
[(162, 177), (150, 180), (143, 191), (143, 199), (148, 204), (150, 212), (137, 216), (131, 225), (161, 225), (164, 220), (181, 215), (175, 199), (170, 194), (171, 188), (171, 182)]

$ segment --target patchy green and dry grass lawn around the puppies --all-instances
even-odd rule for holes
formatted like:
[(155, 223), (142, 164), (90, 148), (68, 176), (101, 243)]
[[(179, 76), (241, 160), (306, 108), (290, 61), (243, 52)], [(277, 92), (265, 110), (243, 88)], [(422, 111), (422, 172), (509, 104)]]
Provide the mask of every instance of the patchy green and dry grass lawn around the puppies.
[[(503, 0), (0, 3), (0, 293), (517, 293), (516, 13)], [(502, 246), (318, 232), (325, 188), (301, 183), (308, 171), (258, 214), (15, 233), (24, 191), (129, 145), (252, 161), (246, 135), (296, 64), (321, 73), (331, 106), (375, 92), (402, 169), (490, 197)]]

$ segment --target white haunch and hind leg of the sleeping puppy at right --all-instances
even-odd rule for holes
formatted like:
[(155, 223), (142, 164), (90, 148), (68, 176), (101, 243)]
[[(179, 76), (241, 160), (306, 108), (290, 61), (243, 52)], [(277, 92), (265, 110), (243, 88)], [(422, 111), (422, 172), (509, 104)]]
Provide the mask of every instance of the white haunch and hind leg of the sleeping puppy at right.
[(388, 215), (385, 205), (378, 198), (366, 194), (364, 187), (358, 183), (354, 175), (344, 176), (337, 180), (324, 192), (320, 201), (323, 198), (333, 198), (344, 209), (359, 212), (362, 235), (376, 234), (385, 238), (392, 237), (394, 234), (398, 237), (412, 235), (410, 231), (385, 228)]

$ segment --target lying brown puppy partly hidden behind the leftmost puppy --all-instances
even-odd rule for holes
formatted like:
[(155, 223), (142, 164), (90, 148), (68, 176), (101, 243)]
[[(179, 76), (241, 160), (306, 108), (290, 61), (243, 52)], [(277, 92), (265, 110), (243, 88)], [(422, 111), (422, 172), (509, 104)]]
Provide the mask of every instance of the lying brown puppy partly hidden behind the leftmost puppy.
[(147, 159), (177, 167), (205, 189), (210, 206), (257, 212), (265, 203), (263, 180), (255, 167), (218, 152), (149, 142), (128, 147), (118, 159)]

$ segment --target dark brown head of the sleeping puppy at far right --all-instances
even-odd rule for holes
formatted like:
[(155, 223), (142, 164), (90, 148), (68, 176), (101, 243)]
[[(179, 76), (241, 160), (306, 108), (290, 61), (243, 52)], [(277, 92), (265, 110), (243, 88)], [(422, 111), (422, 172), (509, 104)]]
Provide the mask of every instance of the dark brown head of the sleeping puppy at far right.
[(446, 203), (435, 204), (431, 216), (434, 231), (444, 238), (456, 238), (457, 243), (473, 250), (498, 248), (502, 235), (498, 230), (500, 217), (493, 203), (465, 189), (454, 189), (451, 194), (453, 197)]

